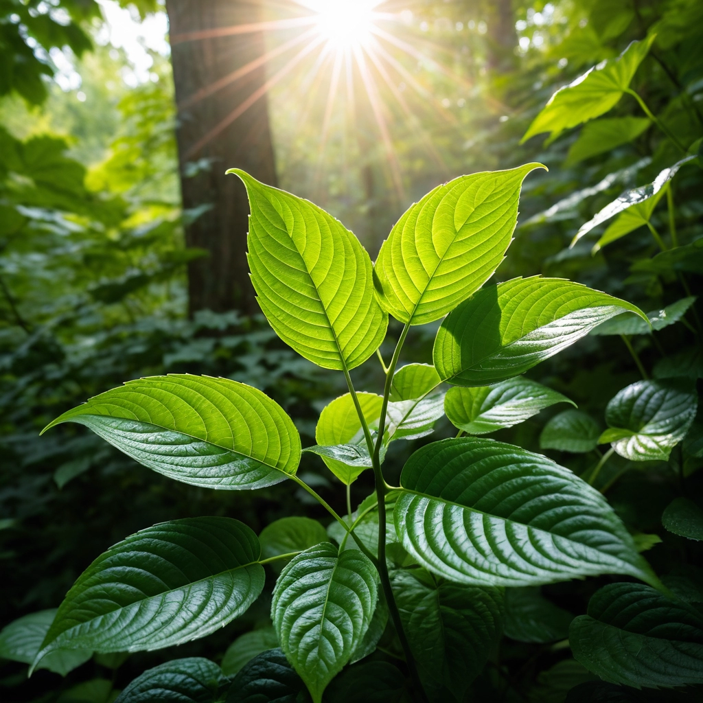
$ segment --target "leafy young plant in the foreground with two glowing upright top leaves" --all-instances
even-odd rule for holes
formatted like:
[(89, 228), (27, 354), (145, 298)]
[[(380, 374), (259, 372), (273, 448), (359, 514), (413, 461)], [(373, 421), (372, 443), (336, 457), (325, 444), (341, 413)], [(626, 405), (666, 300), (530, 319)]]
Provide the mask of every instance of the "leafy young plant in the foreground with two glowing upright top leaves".
[[(248, 259), (262, 311), (290, 347), (347, 382), (349, 393), (321, 413), (318, 445), (303, 451), (320, 455), (346, 484), (349, 515), (297, 475), (295, 425), (253, 387), (178, 374), (96, 396), (49, 427), (86, 425), (146, 467), (194, 486), (250, 490), (294, 482), (332, 524), (325, 532), (314, 520), (286, 518), (259, 538), (231, 517), (200, 517), (129, 536), (70, 589), (33, 666), (65, 650), (153, 650), (206, 636), (258, 598), (269, 563), (280, 572), (273, 632), (238, 645), (225, 673), (203, 659), (169, 662), (140, 676), (120, 701), (164, 688), (198, 700), (224, 692), (228, 701), (254, 693), (293, 700), (302, 680), (320, 703), (342, 669), (373, 652), (382, 636), (389, 638), (385, 650), (396, 647), (404, 659), (411, 695), (461, 701), (501, 635), (506, 607), (531, 607), (539, 598), (511, 589), (506, 605), (506, 586), (621, 574), (648, 584), (624, 584), (628, 593), (654, 588), (664, 595), (652, 598), (666, 600), (598, 491), (544, 456), (475, 436), (570, 402), (520, 376), (540, 361), (619, 314), (649, 325), (634, 305), (568, 280), (486, 285), (510, 245), (522, 181), (538, 167), (462, 176), (434, 188), (394, 226), (375, 264), (323, 209), (233, 169), (249, 195)], [(357, 392), (351, 372), (377, 354), (389, 314), (404, 326), (388, 366), (381, 360), (382, 394)], [(401, 366), (410, 328), (442, 318), (434, 364)], [(389, 485), (389, 444), (429, 434), (444, 411), (459, 436), (415, 451), (400, 485)], [(616, 411), (612, 417), (616, 450), (624, 443), (640, 451), (637, 442), (646, 438)], [(348, 487), (364, 470), (373, 470), (375, 493), (352, 513)], [(564, 619), (546, 601), (537, 606)], [(682, 618), (693, 617), (682, 608)], [(584, 618), (582, 629), (606, 627), (600, 614)], [(559, 627), (555, 620), (553, 629)], [(588, 650), (588, 638), (578, 646)], [(353, 685), (357, 692), (388, 690), (390, 700), (403, 681), (387, 662), (369, 662), (344, 671), (327, 699), (342, 700), (339, 691)]]

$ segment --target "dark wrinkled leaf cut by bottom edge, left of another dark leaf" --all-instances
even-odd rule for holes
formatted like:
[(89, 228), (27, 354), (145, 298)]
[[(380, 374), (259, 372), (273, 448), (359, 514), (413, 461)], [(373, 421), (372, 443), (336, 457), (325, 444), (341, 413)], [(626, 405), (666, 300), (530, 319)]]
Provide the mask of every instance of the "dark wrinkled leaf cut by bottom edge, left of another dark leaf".
[(174, 659), (147, 669), (117, 696), (115, 703), (216, 703), (228, 685), (219, 666), (209, 659)]

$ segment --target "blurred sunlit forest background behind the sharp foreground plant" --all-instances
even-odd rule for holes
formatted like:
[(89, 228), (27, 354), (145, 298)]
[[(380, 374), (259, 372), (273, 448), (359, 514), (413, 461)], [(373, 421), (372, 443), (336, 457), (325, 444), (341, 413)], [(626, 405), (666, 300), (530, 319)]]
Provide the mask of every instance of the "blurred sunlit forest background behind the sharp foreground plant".
[[(333, 92), (333, 57), (310, 51), (296, 58), (303, 45), (295, 22), (266, 32), (186, 36), (215, 20), (220, 28), (295, 20), (302, 13), (295, 3), (167, 5), (0, 0), (2, 625), (56, 607), (96, 555), (155, 522), (235, 515), (259, 531), (288, 515), (324, 521), (302, 491), (287, 486), (255, 495), (195, 489), (139, 467), (83, 430), (39, 439), (61, 412), (125, 379), (188, 372), (261, 388), (295, 418), (304, 446), (314, 444), (318, 413), (343, 389), (278, 341), (257, 314), (243, 267), (244, 191), (225, 178), (226, 168), (253, 165), (255, 176), (317, 202), (373, 259), (400, 214), (438, 183), (542, 162), (550, 171), (524, 185), (515, 242), (496, 280), (561, 276), (644, 311), (699, 292), (703, 179), (696, 160), (650, 203), (641, 226), (594, 250), (607, 226), (600, 225), (569, 247), (581, 225), (622, 191), (651, 183), (678, 162), (681, 146), (684, 155), (698, 153), (699, 1), (383, 3), (377, 9), (394, 16), (387, 26), (396, 43), (387, 41), (386, 63), (369, 60), (364, 72), (357, 61), (351, 77), (337, 76), (356, 86), (353, 99), (340, 86)], [(598, 121), (589, 122), (522, 143), (556, 89), (647, 35), (654, 43), (632, 86), (658, 124), (624, 95), (601, 131), (593, 128)], [(231, 79), (264, 52), (266, 63)], [(224, 124), (223, 116), (257, 90), (262, 97)], [(652, 229), (673, 254), (666, 261), (656, 258)], [(672, 368), (703, 375), (699, 344), (690, 342), (700, 333), (696, 307), (654, 335), (586, 337), (530, 377), (573, 399), (598, 431), (607, 401), (641, 375), (662, 378)], [(416, 360), (431, 361), (437, 325), (426, 327), (408, 340)], [(380, 367), (371, 362), (356, 373), (367, 387), (380, 385)], [(555, 413), (493, 436), (540, 451), (541, 430)], [(453, 434), (441, 420), (432, 437), (394, 447), (389, 474), (397, 475), (419, 444)], [(593, 467), (589, 453), (547, 453), (579, 473)], [(682, 543), (661, 524), (677, 495), (700, 495), (699, 454), (644, 469), (616, 456), (599, 477), (597, 486), (628, 529), (643, 536), (647, 557), (662, 572), (671, 553), (684, 553), (689, 564), (701, 557), (695, 543)], [(336, 479), (321, 460), (308, 455), (303, 462), (305, 480), (332, 496)], [(354, 505), (372, 490), (368, 474), (352, 486)], [(544, 590), (572, 614), (585, 612), (593, 593), (588, 583)], [(270, 597), (264, 592), (244, 617), (178, 650), (119, 662), (96, 657), (65, 677), (43, 670), (29, 680), (26, 666), (2, 662), (0, 695), (107, 701), (168, 659), (219, 662), (240, 633), (268, 625)], [(563, 701), (593, 678), (567, 647), (501, 646), (476, 686), (506, 700)], [(91, 681), (109, 685), (75, 692)]]

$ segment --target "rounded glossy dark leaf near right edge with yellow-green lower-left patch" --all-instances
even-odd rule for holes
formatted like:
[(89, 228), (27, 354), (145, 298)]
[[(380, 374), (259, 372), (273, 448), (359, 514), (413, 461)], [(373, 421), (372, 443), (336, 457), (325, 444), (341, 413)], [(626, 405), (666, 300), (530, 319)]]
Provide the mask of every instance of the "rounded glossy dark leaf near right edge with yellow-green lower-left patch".
[(685, 437), (698, 407), (690, 381), (638, 381), (622, 389), (605, 408), (610, 429), (600, 444), (631, 461), (664, 460)]

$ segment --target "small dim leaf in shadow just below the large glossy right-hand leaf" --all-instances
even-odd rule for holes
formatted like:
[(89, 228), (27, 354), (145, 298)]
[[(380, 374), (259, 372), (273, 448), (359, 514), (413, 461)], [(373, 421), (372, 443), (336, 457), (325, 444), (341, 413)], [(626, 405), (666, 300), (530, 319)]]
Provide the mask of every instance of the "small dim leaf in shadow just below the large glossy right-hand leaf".
[(546, 644), (569, 637), (574, 616), (544, 598), (538, 588), (505, 589), (503, 632), (517, 642)]

